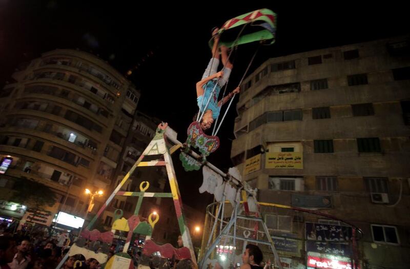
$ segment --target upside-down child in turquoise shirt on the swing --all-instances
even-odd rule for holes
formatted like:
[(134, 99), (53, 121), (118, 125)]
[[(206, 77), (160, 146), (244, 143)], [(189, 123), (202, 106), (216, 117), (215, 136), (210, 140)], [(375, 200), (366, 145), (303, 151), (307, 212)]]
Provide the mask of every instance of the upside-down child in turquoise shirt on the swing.
[[(224, 65), (224, 68), (222, 69), (222, 71), (216, 72), (219, 65), (218, 31), (219, 29), (215, 28), (212, 32), (212, 36), (214, 37), (212, 58), (209, 61), (207, 69), (202, 75), (202, 79), (196, 83), (196, 100), (199, 107), (199, 116), (203, 111), (205, 111), (203, 113), (202, 119), (199, 122), (202, 130), (211, 128), (214, 119), (216, 119), (219, 115), (220, 107), (240, 91), (240, 88), (237, 87), (235, 90), (233, 90), (227, 96), (223, 97), (222, 100), (218, 102), (219, 91), (228, 82), (229, 76), (231, 75), (231, 70), (233, 68), (233, 65), (228, 58), (228, 48), (226, 46), (220, 46), (222, 64)], [(215, 84), (217, 85), (215, 86)], [(211, 96), (214, 87), (215, 94)], [(207, 106), (207, 102), (210, 97), (211, 100), (209, 101), (209, 104)]]

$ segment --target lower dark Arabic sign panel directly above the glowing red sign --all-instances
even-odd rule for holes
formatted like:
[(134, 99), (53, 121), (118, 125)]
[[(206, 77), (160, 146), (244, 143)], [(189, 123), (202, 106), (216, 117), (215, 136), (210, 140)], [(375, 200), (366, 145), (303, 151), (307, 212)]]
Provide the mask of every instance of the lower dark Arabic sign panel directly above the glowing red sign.
[(306, 251), (342, 257), (352, 257), (352, 247), (348, 243), (306, 241)]

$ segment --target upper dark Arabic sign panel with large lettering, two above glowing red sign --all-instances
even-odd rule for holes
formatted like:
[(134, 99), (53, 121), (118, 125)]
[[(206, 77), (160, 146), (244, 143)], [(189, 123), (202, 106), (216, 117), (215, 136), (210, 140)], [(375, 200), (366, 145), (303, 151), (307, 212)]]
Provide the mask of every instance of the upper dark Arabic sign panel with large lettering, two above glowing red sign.
[(352, 228), (332, 224), (306, 222), (306, 239), (321, 242), (352, 240)]

